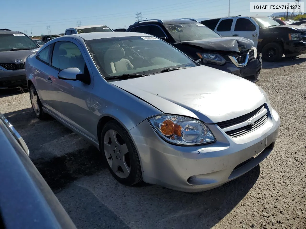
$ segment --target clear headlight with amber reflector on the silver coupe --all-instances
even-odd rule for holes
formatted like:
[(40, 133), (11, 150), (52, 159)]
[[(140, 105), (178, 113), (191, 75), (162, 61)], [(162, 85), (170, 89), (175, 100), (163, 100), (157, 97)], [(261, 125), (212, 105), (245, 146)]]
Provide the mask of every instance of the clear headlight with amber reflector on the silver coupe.
[(158, 115), (149, 118), (153, 129), (164, 140), (178, 145), (199, 145), (215, 141), (206, 125), (196, 119), (176, 115)]

